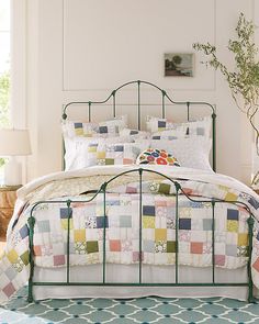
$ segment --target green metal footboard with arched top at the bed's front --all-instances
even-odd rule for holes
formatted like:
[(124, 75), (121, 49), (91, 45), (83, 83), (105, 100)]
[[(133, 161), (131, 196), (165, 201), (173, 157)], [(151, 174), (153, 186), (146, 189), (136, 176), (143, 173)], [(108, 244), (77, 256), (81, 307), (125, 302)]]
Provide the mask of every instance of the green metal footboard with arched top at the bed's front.
[[(106, 191), (108, 186), (119, 177), (122, 177), (127, 174), (138, 174), (139, 177), (139, 259), (138, 259), (138, 282), (109, 282), (106, 280)], [(176, 189), (176, 262), (172, 266), (174, 268), (174, 282), (144, 282), (143, 280), (143, 174), (144, 172), (153, 172), (158, 176), (161, 176), (164, 179), (169, 180)], [(103, 195), (103, 252), (102, 252), (102, 280), (100, 282), (74, 282), (70, 280), (70, 220), (72, 216), (72, 209), (71, 203), (77, 202), (91, 202), (93, 201), (98, 194)], [(212, 281), (211, 282), (179, 282), (179, 194), (184, 195), (188, 200), (199, 203), (210, 203), (212, 210)], [(45, 203), (53, 203), (53, 204), (60, 204), (64, 203), (67, 209), (67, 250), (66, 250), (66, 280), (65, 281), (57, 281), (57, 282), (40, 282), (34, 280), (34, 225), (35, 225), (35, 210), (38, 205)], [(247, 281), (246, 282), (217, 282), (215, 280), (215, 205), (217, 203), (233, 203), (235, 205), (244, 208), (248, 213), (249, 216), (247, 219), (248, 224), (248, 262), (247, 262)], [(249, 206), (244, 202), (238, 201), (223, 201), (223, 200), (215, 200), (215, 199), (204, 199), (204, 200), (195, 200), (193, 197), (188, 195), (182, 190), (180, 183), (178, 181), (172, 180), (171, 178), (157, 172), (155, 170), (149, 169), (133, 169), (120, 175), (112, 177), (109, 181), (104, 182), (100, 189), (91, 197), (90, 199), (86, 200), (52, 200), (52, 201), (40, 201), (35, 203), (31, 210), (31, 214), (29, 217), (29, 243), (30, 243), (30, 265), (31, 265), (31, 272), (30, 272), (30, 280), (29, 280), (29, 302), (33, 302), (33, 288), (35, 286), (103, 286), (103, 287), (247, 287), (248, 288), (248, 301), (254, 301), (252, 294), (252, 279), (251, 279), (251, 253), (252, 253), (252, 233), (254, 233), (254, 223), (255, 216), (252, 215)]]

